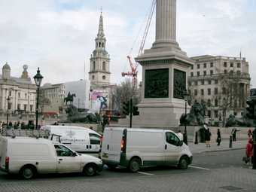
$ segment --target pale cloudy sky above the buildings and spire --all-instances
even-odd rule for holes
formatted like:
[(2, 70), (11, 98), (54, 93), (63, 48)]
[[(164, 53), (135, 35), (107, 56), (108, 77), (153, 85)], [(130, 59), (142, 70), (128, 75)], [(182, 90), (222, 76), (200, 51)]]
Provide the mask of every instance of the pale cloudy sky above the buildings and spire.
[[(237, 56), (242, 50), (256, 87), (256, 1), (177, 0), (177, 41), (188, 56)], [(126, 55), (138, 54), (151, 0), (0, 0), (0, 64), (11, 75), (29, 65), (40, 67), (44, 83), (76, 81), (87, 76), (102, 7), (111, 82), (130, 70)], [(141, 27), (142, 26), (142, 27)], [(155, 19), (145, 48), (154, 42)], [(136, 37), (139, 35), (138, 41)], [(136, 41), (136, 43), (134, 43)], [(86, 73), (84, 73), (84, 63)], [(139, 79), (141, 80), (139, 67)]]

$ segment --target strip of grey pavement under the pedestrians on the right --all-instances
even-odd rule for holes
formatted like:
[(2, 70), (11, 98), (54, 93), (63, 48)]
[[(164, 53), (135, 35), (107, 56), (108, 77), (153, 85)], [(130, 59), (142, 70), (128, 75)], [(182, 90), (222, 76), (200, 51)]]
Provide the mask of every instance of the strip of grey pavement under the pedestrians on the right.
[(215, 141), (210, 143), (211, 147), (206, 148), (205, 143), (194, 144), (192, 142), (188, 143), (190, 151), (192, 154), (200, 154), (204, 152), (214, 152), (214, 151), (230, 151), (230, 150), (238, 150), (238, 149), (245, 149), (247, 144), (247, 140), (239, 140), (236, 142), (232, 142), (232, 148), (230, 148), (230, 140), (229, 139), (222, 139), (221, 145), (218, 146)]

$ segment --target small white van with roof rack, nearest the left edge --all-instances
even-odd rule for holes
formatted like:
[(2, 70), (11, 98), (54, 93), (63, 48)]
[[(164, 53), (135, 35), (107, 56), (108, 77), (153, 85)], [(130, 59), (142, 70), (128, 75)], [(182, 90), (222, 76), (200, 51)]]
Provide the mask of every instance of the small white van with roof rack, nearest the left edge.
[(95, 175), (102, 171), (102, 160), (78, 154), (49, 139), (0, 137), (0, 169), (29, 179), (41, 173), (82, 172)]

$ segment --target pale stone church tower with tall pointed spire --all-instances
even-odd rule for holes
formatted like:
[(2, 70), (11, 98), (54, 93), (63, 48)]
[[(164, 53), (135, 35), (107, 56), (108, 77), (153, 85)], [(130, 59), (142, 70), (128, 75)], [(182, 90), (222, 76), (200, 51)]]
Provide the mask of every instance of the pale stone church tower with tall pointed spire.
[(110, 84), (110, 58), (105, 47), (106, 38), (103, 29), (103, 16), (101, 13), (99, 18), (99, 32), (95, 39), (95, 50), (93, 50), (93, 54), (90, 57), (89, 79), (92, 89), (108, 87)]

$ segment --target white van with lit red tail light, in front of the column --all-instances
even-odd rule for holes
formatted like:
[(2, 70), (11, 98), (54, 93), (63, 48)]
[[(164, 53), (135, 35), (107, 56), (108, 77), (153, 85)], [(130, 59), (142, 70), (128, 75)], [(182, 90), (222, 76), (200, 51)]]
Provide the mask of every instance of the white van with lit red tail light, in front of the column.
[(142, 166), (178, 165), (187, 169), (192, 154), (171, 130), (105, 128), (101, 158), (108, 167), (125, 166), (138, 172)]

